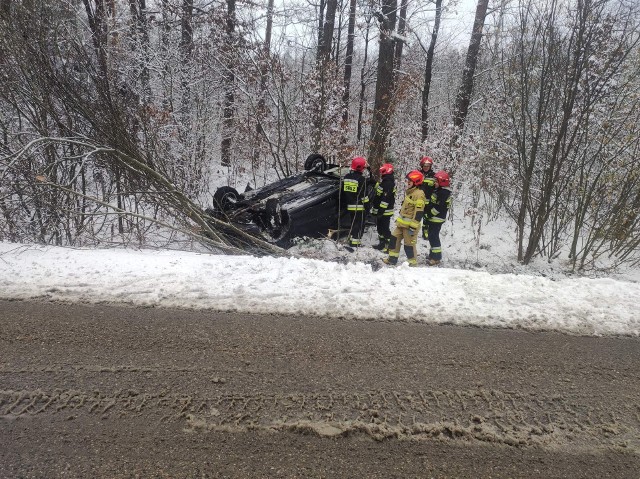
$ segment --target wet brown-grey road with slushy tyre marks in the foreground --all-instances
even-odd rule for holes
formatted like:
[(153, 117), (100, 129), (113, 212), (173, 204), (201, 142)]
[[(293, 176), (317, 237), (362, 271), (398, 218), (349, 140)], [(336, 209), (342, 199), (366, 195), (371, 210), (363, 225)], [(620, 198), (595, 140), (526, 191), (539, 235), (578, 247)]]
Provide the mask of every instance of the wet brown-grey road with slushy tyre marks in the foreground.
[(0, 301), (0, 478), (640, 478), (640, 338)]

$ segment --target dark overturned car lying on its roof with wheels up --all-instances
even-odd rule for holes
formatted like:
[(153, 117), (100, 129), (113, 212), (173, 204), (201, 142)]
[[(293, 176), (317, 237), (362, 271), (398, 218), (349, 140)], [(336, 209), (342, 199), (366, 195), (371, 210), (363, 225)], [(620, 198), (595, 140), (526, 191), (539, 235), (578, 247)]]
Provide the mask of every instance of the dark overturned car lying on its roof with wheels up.
[(340, 182), (349, 169), (328, 164), (319, 154), (310, 155), (304, 169), (244, 193), (220, 187), (206, 212), (282, 248), (292, 246), (296, 237), (348, 233), (349, 218), (340, 208)]

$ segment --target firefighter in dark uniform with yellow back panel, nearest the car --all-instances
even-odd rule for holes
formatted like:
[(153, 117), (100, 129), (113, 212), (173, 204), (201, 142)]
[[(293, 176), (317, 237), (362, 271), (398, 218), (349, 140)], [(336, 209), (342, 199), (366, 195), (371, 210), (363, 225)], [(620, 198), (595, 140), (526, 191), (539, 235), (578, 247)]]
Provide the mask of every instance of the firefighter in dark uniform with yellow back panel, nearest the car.
[(351, 171), (342, 179), (341, 202), (346, 205), (349, 213), (349, 246), (358, 247), (362, 244), (365, 208), (369, 202), (367, 196), (367, 180), (364, 170), (368, 167), (367, 160), (356, 156), (351, 160)]

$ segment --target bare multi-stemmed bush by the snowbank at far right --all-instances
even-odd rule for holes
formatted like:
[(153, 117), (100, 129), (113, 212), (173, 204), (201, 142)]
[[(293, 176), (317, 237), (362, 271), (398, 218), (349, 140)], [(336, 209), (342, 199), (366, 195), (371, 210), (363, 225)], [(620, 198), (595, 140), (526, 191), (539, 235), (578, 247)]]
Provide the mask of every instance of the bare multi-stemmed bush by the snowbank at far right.
[[(505, 51), (502, 80), (515, 141), (514, 216), (518, 259), (524, 264), (537, 254), (552, 256), (558, 251), (572, 223), (576, 253), (584, 222), (595, 221), (590, 215), (608, 183), (603, 180), (619, 178), (617, 173), (609, 176), (613, 172), (600, 155), (625, 158), (625, 152), (634, 151), (637, 137), (631, 143), (614, 141), (629, 130), (611, 128), (611, 119), (599, 113), (615, 105), (618, 95), (629, 94), (621, 75), (639, 41), (629, 8), (615, 0), (520, 4), (519, 36)], [(614, 144), (618, 149), (609, 146)], [(624, 171), (634, 171), (633, 165), (627, 162)], [(633, 187), (629, 191), (633, 203)], [(619, 218), (610, 209), (599, 211)], [(604, 224), (611, 226), (608, 220)]]

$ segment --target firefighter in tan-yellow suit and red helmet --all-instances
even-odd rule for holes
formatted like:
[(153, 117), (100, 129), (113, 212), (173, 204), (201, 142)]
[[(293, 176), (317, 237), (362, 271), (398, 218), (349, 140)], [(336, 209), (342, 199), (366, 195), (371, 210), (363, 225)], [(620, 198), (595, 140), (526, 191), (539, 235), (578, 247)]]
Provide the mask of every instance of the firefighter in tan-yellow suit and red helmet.
[(400, 208), (400, 216), (396, 219), (396, 229), (389, 242), (389, 256), (382, 260), (386, 264), (398, 264), (400, 247), (404, 240), (404, 252), (407, 255), (409, 266), (418, 265), (416, 240), (427, 204), (427, 198), (421, 188), (423, 181), (424, 175), (417, 170), (411, 171), (407, 175), (407, 192), (402, 202), (402, 208)]

